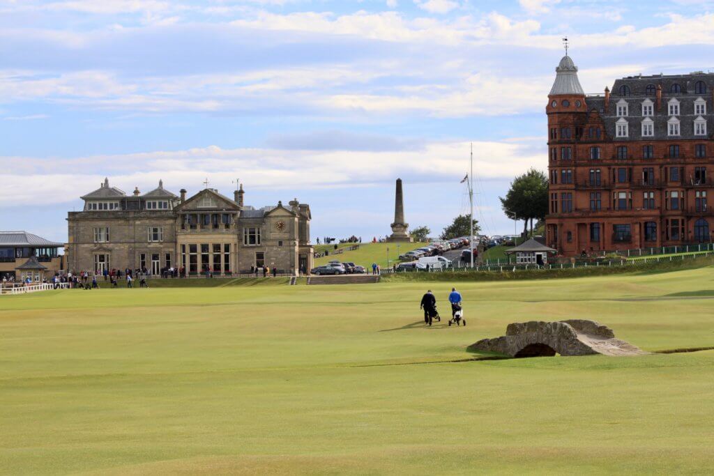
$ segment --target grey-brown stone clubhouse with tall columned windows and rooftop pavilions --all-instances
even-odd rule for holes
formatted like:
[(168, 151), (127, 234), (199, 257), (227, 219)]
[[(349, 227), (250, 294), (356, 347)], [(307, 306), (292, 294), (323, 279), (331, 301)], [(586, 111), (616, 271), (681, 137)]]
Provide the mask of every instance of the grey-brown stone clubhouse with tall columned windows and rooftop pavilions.
[(233, 198), (205, 188), (191, 197), (159, 186), (131, 195), (101, 186), (82, 196), (84, 210), (67, 216), (65, 246), (69, 271), (126, 268), (152, 275), (169, 268), (183, 268), (186, 275), (250, 273), (251, 269), (276, 268), (296, 275), (310, 270), (310, 207), (296, 200), (283, 206), (253, 208), (243, 203), (243, 185)]

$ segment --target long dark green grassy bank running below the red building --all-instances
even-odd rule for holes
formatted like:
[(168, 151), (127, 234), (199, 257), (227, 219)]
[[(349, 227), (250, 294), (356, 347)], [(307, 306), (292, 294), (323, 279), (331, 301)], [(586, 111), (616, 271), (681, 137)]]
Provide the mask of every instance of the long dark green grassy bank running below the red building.
[(714, 256), (689, 258), (685, 260), (662, 260), (637, 265), (588, 266), (587, 268), (568, 268), (550, 270), (516, 270), (503, 265), (501, 271), (445, 271), (440, 273), (396, 273), (382, 276), (385, 282), (409, 281), (508, 281), (508, 280), (544, 280), (556, 278), (586, 278), (610, 275), (646, 275), (652, 273), (669, 273), (671, 271), (705, 268), (714, 265)]

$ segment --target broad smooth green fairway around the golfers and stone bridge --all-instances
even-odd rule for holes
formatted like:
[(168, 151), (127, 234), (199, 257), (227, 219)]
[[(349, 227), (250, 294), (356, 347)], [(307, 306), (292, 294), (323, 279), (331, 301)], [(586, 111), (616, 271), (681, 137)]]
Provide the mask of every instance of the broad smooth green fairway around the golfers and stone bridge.
[(524, 320), (714, 345), (714, 268), (458, 283), (0, 297), (0, 473), (706, 473), (714, 351), (478, 357)]

